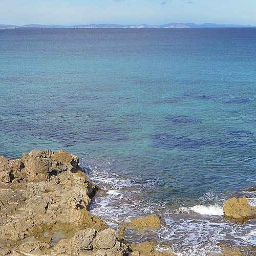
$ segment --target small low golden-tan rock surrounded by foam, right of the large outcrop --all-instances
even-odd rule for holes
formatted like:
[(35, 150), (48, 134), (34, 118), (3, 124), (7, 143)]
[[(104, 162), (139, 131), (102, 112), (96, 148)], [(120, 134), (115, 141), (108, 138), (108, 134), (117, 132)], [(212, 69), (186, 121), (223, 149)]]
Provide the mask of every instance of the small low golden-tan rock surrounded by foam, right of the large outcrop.
[(131, 219), (131, 227), (134, 229), (148, 228), (157, 229), (162, 224), (160, 218), (156, 215), (148, 215), (139, 219)]

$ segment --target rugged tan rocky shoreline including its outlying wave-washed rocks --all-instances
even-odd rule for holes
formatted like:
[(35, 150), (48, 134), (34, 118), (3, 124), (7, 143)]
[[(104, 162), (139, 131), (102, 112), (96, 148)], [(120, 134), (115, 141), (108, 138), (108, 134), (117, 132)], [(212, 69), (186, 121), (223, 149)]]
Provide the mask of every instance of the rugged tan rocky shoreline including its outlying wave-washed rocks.
[[(151, 242), (123, 239), (127, 225), (158, 228), (157, 216), (132, 219), (117, 232), (92, 215), (90, 204), (100, 188), (78, 163), (62, 150), (0, 157), (0, 255), (174, 255)], [(245, 221), (256, 217), (256, 208), (246, 198), (232, 198), (224, 203), (224, 215)]]

